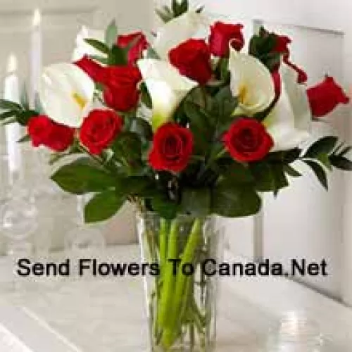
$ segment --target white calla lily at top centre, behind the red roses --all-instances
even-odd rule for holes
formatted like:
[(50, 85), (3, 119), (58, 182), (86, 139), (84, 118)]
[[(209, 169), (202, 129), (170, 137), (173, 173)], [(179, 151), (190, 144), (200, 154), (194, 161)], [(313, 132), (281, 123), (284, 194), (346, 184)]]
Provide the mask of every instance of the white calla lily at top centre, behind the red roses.
[(194, 37), (203, 23), (205, 23), (204, 15), (196, 11), (188, 11), (170, 20), (158, 29), (153, 49), (161, 59), (168, 60), (169, 51)]

